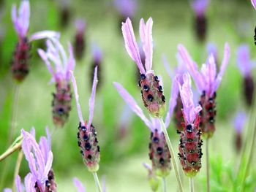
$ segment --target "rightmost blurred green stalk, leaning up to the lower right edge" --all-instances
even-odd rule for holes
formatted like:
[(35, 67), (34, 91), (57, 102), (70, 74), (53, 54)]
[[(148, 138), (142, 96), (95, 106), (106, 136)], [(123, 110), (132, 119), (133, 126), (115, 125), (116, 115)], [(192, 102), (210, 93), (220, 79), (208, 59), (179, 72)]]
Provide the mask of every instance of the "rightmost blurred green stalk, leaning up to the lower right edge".
[(255, 138), (256, 137), (255, 123), (256, 123), (256, 119), (254, 120), (254, 123), (253, 123), (252, 144), (250, 145), (250, 148), (249, 148), (249, 157), (248, 157), (248, 160), (246, 162), (245, 172), (244, 172), (244, 176), (243, 176), (242, 183), (241, 183), (241, 191), (244, 191), (245, 179), (246, 179), (246, 177), (248, 175), (249, 165), (252, 162), (253, 152), (255, 150), (255, 148), (254, 148), (255, 140), (256, 140), (256, 138)]

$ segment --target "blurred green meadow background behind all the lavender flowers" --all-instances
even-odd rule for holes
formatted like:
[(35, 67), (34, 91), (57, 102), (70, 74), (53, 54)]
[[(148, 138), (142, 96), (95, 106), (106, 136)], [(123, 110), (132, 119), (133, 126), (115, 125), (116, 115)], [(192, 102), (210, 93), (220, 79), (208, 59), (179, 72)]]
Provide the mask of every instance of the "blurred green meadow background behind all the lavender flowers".
[[(20, 1), (0, 1), (0, 153), (7, 149), (7, 138), (12, 116), (15, 82), (10, 74), (10, 61), (15, 44), (18, 40), (10, 19), (13, 3)], [(147, 171), (142, 163), (148, 162), (148, 128), (136, 115), (129, 111), (124, 101), (113, 87), (113, 81), (120, 82), (127, 88), (143, 108), (140, 90), (137, 86), (138, 73), (135, 64), (124, 49), (121, 36), (120, 17), (113, 7), (112, 1), (67, 1), (71, 17), (66, 27), (60, 25), (61, 7), (63, 1), (38, 1), (31, 3), (31, 18), (29, 34), (45, 29), (61, 31), (61, 42), (67, 48), (67, 42), (74, 42), (75, 19), (86, 20), (86, 53), (83, 60), (77, 61), (75, 77), (78, 82), (80, 104), (83, 116), (88, 118), (89, 96), (91, 94), (91, 42), (97, 43), (102, 49), (102, 78), (97, 91), (94, 111), (94, 126), (97, 129), (101, 147), (99, 177), (105, 176), (107, 191), (150, 191), (147, 181)], [(241, 43), (251, 47), (252, 58), (256, 56), (253, 42), (256, 14), (250, 1), (211, 1), (206, 12), (208, 18), (207, 42), (217, 45), (219, 61), (223, 56), (225, 42), (230, 44), (230, 64), (217, 92), (217, 131), (210, 142), (211, 156), (211, 188), (212, 191), (236, 191), (236, 180), (231, 176), (237, 172), (240, 153), (234, 147), (233, 116), (236, 110), (247, 110), (241, 91), (241, 74), (236, 67), (236, 48)], [(154, 55), (153, 69), (155, 74), (164, 80), (165, 97), (170, 96), (170, 78), (163, 66), (162, 54), (167, 56), (172, 68), (176, 66), (178, 43), (184, 44), (198, 64), (207, 57), (206, 43), (200, 44), (193, 31), (194, 12), (189, 1), (138, 1), (138, 10), (133, 19), (136, 37), (140, 18), (154, 20), (153, 39)], [(72, 101), (72, 111), (64, 128), (55, 130), (51, 117), (51, 101), (55, 86), (49, 84), (50, 74), (45, 64), (37, 55), (37, 47), (43, 42), (33, 42), (31, 50), (31, 70), (26, 80), (20, 84), (18, 113), (15, 137), (20, 134), (20, 128), (30, 130), (36, 128), (37, 139), (45, 135), (45, 126), (53, 132), (52, 151), (53, 169), (56, 172), (58, 191), (75, 191), (72, 177), (78, 177), (86, 185), (87, 191), (96, 191), (92, 175), (86, 170), (77, 145), (78, 115), (75, 101)], [(168, 100), (168, 99), (167, 99)], [(143, 108), (146, 112), (146, 109)], [(54, 131), (53, 131), (54, 130)], [(252, 131), (252, 127), (245, 128)], [(178, 151), (178, 134), (174, 124), (168, 128), (173, 147)], [(203, 145), (203, 153), (205, 146)], [(177, 153), (176, 153), (177, 154)], [(177, 155), (178, 156), (178, 155)], [(176, 161), (178, 158), (176, 156)], [(12, 185), (17, 153), (14, 153), (0, 163), (1, 172), (8, 164), (7, 177), (1, 179), (1, 187)], [(255, 159), (255, 158), (254, 158)], [(8, 163), (6, 163), (8, 161)], [(203, 166), (195, 177), (196, 191), (206, 191), (206, 167), (203, 156)], [(178, 162), (179, 165), (179, 162)], [(29, 172), (27, 162), (23, 159), (20, 177)], [(184, 188), (188, 189), (188, 180), (184, 176)], [(231, 176), (230, 176), (231, 174)], [(235, 184), (234, 184), (235, 183)], [(172, 170), (167, 177), (168, 191), (176, 191), (176, 177)], [(250, 176), (246, 178), (246, 191), (256, 187), (256, 169), (252, 166)], [(0, 191), (2, 189), (0, 188)], [(162, 189), (160, 188), (159, 191)]]

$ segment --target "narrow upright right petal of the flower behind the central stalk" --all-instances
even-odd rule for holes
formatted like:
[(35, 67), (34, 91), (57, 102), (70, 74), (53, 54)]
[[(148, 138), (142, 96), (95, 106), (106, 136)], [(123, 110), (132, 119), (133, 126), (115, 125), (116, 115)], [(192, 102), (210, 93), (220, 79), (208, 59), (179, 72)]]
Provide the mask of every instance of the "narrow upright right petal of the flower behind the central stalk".
[(177, 97), (178, 97), (178, 82), (175, 78), (173, 78), (172, 89), (170, 93), (169, 110), (165, 118), (166, 128), (170, 125), (170, 118), (173, 116), (173, 110), (177, 104)]

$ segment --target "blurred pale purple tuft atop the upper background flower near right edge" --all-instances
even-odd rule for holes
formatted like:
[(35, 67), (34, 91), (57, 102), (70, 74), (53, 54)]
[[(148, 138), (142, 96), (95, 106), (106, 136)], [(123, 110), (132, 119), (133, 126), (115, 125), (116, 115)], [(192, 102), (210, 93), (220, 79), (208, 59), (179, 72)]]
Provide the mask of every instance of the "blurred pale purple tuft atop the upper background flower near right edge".
[(240, 69), (240, 72), (244, 75), (244, 77), (249, 76), (251, 74), (252, 62), (250, 60), (248, 45), (241, 45), (238, 47), (237, 64), (238, 69)]

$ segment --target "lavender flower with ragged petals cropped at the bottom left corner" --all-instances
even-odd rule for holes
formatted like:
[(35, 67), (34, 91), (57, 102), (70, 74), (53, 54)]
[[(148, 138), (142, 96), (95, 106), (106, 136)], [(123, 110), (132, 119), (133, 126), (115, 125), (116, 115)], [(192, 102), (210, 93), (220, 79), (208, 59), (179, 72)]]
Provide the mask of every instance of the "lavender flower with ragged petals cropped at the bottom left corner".
[[(34, 130), (29, 132), (21, 130), (23, 135), (22, 150), (29, 163), (29, 174), (25, 177), (26, 192), (56, 192), (56, 183), (54, 182), (53, 169), (53, 153), (50, 150), (50, 134), (48, 128), (46, 129), (47, 138), (40, 137), (39, 144), (35, 140)], [(15, 184), (18, 192), (23, 191), (20, 176), (15, 178)], [(12, 191), (5, 189), (5, 191)]]

